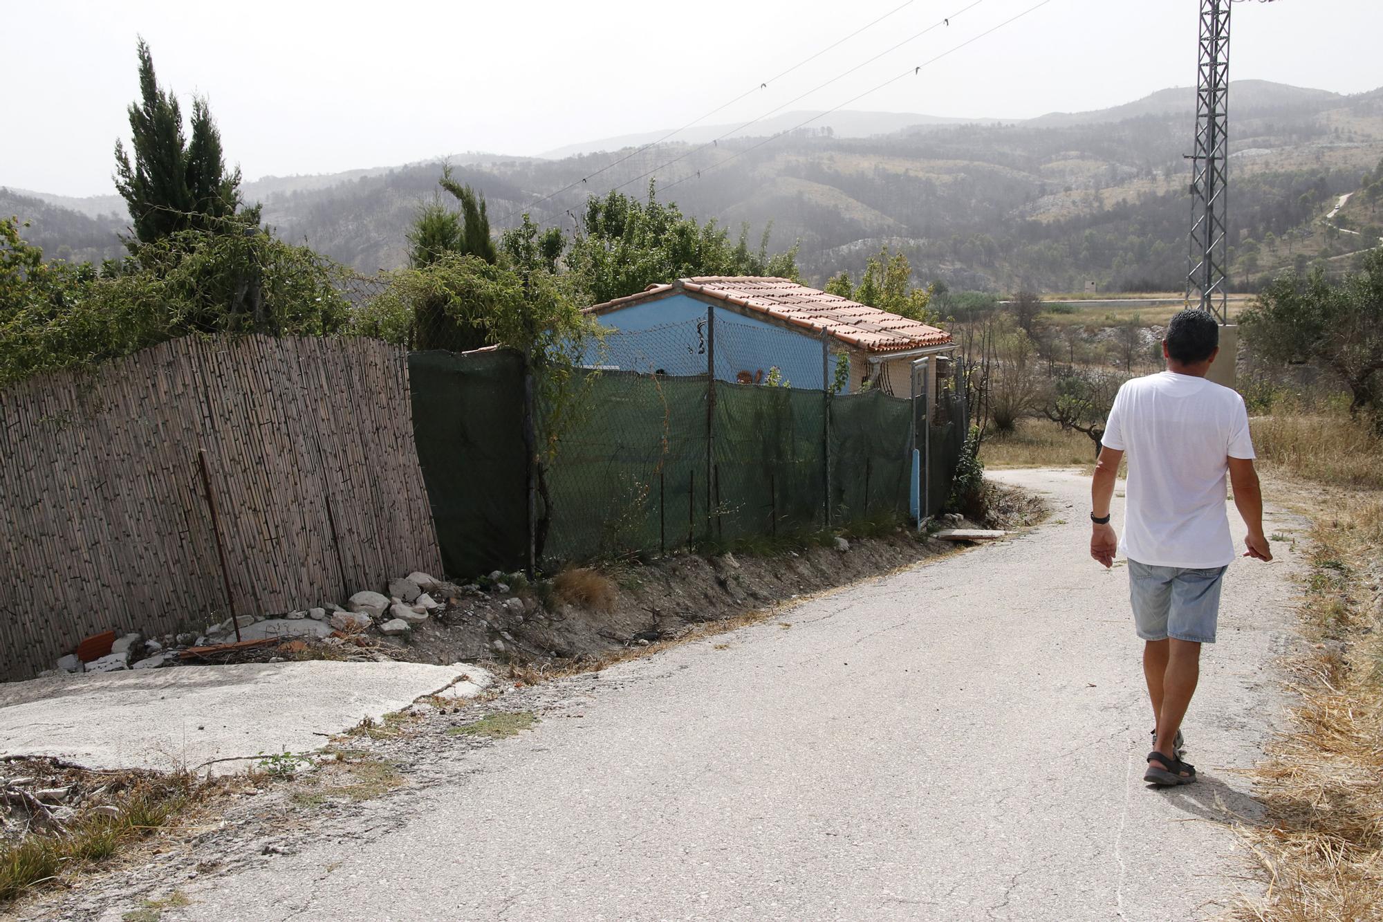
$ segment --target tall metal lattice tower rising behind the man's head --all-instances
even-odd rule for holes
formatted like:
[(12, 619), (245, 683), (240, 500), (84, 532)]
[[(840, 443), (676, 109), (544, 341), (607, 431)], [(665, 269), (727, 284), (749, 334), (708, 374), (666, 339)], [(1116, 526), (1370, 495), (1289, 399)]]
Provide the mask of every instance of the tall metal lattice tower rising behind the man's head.
[(1189, 155), (1191, 259), (1187, 305), (1228, 321), (1229, 231), (1229, 8), (1231, 0), (1200, 1), (1196, 80), (1196, 148)]

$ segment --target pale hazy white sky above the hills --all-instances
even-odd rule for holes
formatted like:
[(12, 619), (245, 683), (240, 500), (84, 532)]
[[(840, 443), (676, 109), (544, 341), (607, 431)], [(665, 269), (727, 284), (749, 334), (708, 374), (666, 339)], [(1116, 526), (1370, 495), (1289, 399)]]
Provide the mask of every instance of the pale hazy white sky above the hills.
[[(902, 0), (452, 0), (18, 3), (0, 0), (0, 184), (109, 194), (127, 137), (136, 36), (191, 112), (205, 94), (246, 179), (463, 151), (539, 154), (671, 129), (896, 8)], [(708, 123), (794, 102), (831, 108), (1039, 0), (914, 0)], [(1048, 0), (848, 108), (1028, 118), (1195, 82), (1199, 0)], [(1234, 7), (1231, 76), (1359, 93), (1383, 84), (1379, 0)], [(1191, 126), (1188, 126), (1188, 136)]]

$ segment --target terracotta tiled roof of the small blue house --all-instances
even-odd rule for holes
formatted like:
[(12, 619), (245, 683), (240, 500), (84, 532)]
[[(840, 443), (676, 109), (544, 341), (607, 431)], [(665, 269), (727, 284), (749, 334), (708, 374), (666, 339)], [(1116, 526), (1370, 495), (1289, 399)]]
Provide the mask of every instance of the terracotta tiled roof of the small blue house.
[(647, 291), (586, 307), (586, 313), (604, 313), (650, 298), (662, 298), (678, 289), (697, 292), (737, 305), (750, 311), (801, 327), (804, 331), (830, 332), (837, 339), (866, 352), (903, 352), (942, 346), (952, 341), (945, 329), (929, 327), (887, 310), (870, 307), (839, 295), (799, 285), (788, 278), (758, 275), (698, 275), (679, 278), (671, 285), (650, 285)]

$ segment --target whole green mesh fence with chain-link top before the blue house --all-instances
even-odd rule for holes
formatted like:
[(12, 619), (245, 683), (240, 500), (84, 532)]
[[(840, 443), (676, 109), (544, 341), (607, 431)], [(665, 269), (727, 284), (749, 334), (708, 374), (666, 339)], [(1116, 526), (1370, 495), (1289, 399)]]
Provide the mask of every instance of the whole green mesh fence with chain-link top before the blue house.
[[(734, 339), (718, 332), (711, 343), (700, 327), (621, 331), (570, 385), (574, 411), (555, 414), (545, 389), (535, 388), (532, 533), (541, 566), (904, 516), (911, 451), (924, 437), (932, 471), (927, 511), (945, 505), (965, 433), (953, 388), (938, 395), (934, 425), (918, 414), (914, 426), (922, 400), (798, 386), (781, 371), (813, 382), (824, 372), (830, 381), (835, 356), (827, 352), (823, 363), (823, 343), (806, 336), (755, 342), (750, 332), (762, 338), (744, 332), (737, 354), (727, 347)], [(686, 374), (709, 368), (712, 350), (714, 386), (708, 374)], [(750, 368), (754, 356), (766, 356), (763, 375)], [(409, 372), (419, 460), (448, 575), (524, 566), (523, 359), (415, 353)], [(559, 415), (567, 422), (548, 431), (546, 421)]]

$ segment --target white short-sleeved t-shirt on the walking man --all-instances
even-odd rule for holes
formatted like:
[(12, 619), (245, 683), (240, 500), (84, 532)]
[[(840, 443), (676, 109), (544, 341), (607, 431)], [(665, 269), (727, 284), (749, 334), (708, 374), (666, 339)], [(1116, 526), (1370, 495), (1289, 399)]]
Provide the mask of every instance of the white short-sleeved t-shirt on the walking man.
[(1119, 388), (1101, 443), (1129, 458), (1129, 559), (1195, 569), (1234, 561), (1227, 458), (1254, 457), (1243, 397), (1195, 375), (1134, 378)]

